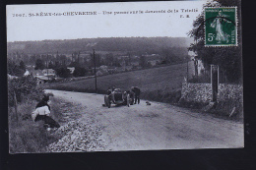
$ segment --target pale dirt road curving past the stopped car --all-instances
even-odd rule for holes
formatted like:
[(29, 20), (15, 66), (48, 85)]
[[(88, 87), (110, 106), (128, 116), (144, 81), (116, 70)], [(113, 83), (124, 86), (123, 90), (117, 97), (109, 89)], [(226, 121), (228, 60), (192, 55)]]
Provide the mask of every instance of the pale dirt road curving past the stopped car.
[(47, 90), (54, 97), (85, 106), (81, 121), (102, 126), (108, 150), (154, 150), (243, 147), (243, 124), (152, 102), (103, 107), (103, 95)]

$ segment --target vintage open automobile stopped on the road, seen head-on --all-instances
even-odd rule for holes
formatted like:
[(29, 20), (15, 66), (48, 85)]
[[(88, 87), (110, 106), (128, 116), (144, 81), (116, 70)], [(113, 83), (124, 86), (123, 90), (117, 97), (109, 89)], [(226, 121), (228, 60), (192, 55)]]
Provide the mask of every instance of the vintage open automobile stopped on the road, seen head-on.
[(104, 96), (104, 105), (108, 108), (111, 107), (111, 104), (127, 105), (129, 107), (133, 102), (134, 98), (130, 91), (122, 91), (120, 88), (108, 89)]

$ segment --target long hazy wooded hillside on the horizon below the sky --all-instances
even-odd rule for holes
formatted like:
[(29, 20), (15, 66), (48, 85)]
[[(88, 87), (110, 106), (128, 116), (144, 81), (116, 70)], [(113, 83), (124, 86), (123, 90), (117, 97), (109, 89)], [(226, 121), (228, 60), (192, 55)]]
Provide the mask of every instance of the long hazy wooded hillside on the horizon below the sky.
[[(135, 53), (161, 53), (173, 48), (187, 53), (192, 42), (189, 37), (110, 37), (66, 40), (16, 41), (7, 43), (8, 53), (65, 53), (75, 51), (122, 51)], [(183, 53), (181, 52), (181, 53)]]

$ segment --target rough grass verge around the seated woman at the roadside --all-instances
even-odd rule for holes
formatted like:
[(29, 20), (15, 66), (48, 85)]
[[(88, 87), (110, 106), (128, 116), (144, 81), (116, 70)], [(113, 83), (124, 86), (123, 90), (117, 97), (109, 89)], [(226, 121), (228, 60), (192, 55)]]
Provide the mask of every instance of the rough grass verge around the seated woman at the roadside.
[[(61, 112), (62, 100), (51, 97), (52, 103), (50, 116), (60, 123), (65, 124)], [(31, 113), (35, 109), (36, 101), (27, 101), (18, 105), (18, 117), (15, 109), (9, 107), (9, 152), (10, 153), (37, 153), (45, 152), (45, 147), (60, 139), (45, 131), (43, 122), (33, 122)]]

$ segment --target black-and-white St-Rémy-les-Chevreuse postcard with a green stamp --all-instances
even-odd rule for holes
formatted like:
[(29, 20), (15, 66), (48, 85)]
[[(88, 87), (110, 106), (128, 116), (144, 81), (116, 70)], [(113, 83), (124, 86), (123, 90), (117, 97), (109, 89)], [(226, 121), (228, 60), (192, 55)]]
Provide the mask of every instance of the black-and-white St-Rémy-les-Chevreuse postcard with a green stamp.
[(239, 0), (6, 10), (10, 153), (244, 146)]

